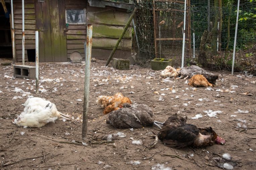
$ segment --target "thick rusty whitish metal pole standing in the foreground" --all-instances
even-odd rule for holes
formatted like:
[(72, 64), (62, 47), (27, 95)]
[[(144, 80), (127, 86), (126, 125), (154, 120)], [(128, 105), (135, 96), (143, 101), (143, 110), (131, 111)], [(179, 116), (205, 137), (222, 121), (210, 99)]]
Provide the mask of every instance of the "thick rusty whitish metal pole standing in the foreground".
[(92, 52), (92, 24), (87, 24), (87, 34), (85, 42), (85, 88), (84, 88), (84, 108), (83, 108), (83, 126), (82, 126), (82, 142), (87, 143), (87, 126), (88, 126), (88, 106), (89, 106), (89, 87), (90, 87), (90, 66)]

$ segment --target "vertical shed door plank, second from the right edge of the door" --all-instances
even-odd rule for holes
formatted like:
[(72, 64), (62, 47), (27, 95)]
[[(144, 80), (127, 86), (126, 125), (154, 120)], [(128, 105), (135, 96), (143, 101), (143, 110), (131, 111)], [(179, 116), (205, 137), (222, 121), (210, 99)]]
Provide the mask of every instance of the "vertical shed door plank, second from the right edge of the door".
[[(51, 39), (52, 39), (52, 57), (53, 61), (61, 61), (60, 56), (60, 30), (59, 30), (59, 11), (58, 1), (49, 0), (50, 7), (50, 23), (51, 23)], [(54, 18), (54, 19), (53, 19)]]

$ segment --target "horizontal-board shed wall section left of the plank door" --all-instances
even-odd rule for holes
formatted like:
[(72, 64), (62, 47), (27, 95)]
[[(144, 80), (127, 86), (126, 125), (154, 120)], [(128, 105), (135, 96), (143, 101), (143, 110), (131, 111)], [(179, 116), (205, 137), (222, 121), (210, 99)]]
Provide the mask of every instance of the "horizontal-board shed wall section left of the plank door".
[[(13, 0), (15, 48), (17, 61), (22, 61), (22, 5), (21, 0)], [(27, 49), (35, 49), (36, 16), (34, 0), (24, 1), (25, 20), (25, 61), (28, 61)]]

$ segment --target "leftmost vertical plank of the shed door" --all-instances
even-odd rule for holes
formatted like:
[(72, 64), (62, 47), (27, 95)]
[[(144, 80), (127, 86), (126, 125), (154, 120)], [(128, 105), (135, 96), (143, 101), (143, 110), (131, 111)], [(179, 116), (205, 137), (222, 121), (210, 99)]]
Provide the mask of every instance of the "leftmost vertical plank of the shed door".
[[(41, 2), (36, 2), (35, 3), (35, 9), (36, 9), (36, 28), (37, 30), (43, 30), (44, 25), (43, 25), (43, 13), (42, 13), (42, 3)], [(38, 43), (39, 43), (39, 62), (45, 62), (45, 46), (44, 46), (44, 31), (39, 31), (38, 32)]]

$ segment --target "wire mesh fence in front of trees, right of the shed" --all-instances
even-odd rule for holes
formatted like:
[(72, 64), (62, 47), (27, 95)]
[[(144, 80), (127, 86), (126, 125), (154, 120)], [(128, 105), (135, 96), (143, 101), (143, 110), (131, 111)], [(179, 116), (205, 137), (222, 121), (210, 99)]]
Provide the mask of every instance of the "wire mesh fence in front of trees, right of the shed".
[[(136, 0), (141, 62), (172, 58), (181, 66), (184, 0)], [(237, 1), (187, 0), (185, 65), (231, 69)], [(240, 1), (235, 70), (256, 69), (256, 1)], [(195, 57), (195, 58), (194, 58)]]

